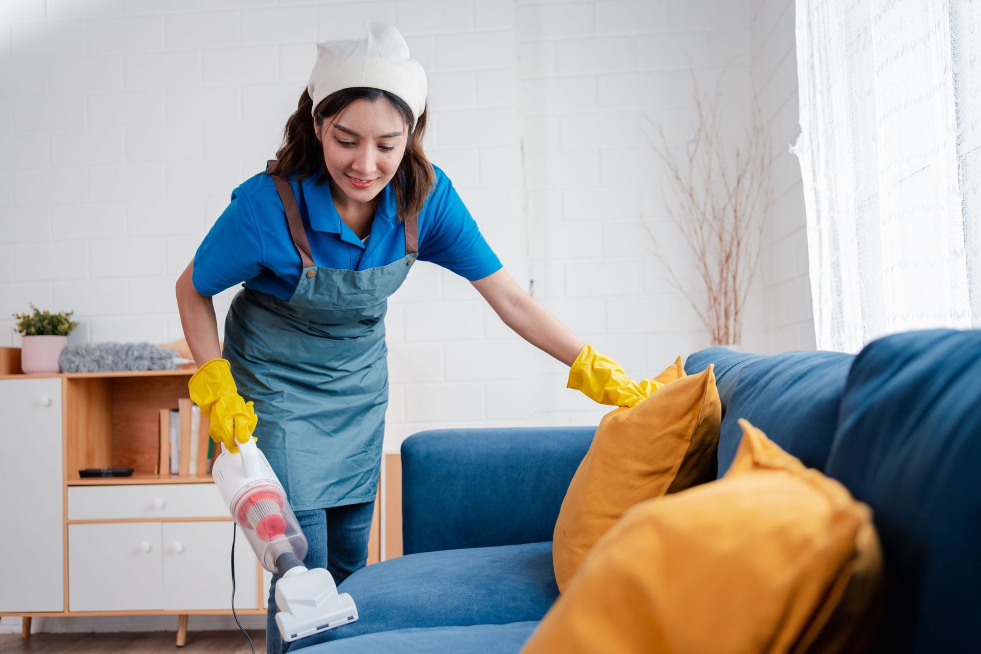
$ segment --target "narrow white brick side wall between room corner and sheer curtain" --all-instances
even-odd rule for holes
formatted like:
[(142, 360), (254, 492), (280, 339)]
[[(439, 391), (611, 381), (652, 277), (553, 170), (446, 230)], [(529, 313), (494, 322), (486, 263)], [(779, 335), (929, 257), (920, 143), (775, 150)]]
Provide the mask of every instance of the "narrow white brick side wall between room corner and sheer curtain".
[(760, 262), (766, 351), (813, 349), (800, 166), (788, 150), (800, 133), (794, 1), (752, 0), (750, 28), (752, 82), (772, 126), (774, 146), (774, 201)]

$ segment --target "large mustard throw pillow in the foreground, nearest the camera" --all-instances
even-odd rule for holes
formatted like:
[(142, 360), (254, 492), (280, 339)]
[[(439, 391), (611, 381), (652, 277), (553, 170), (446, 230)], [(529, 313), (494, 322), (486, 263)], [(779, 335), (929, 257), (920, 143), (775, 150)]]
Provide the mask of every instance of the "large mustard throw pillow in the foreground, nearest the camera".
[(862, 651), (882, 588), (871, 512), (740, 423), (726, 476), (630, 510), (523, 652)]

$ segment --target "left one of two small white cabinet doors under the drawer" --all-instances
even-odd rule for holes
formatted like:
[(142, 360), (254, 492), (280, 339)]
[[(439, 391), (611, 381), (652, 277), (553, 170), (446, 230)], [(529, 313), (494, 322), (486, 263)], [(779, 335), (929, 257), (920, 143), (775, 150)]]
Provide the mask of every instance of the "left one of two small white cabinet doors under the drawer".
[(69, 611), (163, 608), (160, 523), (69, 525)]

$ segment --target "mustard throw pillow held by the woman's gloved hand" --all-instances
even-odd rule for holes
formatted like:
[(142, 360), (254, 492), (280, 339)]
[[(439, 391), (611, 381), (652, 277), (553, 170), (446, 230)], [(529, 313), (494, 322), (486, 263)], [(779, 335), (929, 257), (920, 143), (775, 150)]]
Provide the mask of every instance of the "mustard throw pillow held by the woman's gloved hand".
[(603, 417), (569, 484), (552, 536), (555, 581), (564, 590), (590, 548), (627, 509), (713, 476), (722, 407), (712, 367), (688, 377), (681, 357), (666, 385), (633, 408)]

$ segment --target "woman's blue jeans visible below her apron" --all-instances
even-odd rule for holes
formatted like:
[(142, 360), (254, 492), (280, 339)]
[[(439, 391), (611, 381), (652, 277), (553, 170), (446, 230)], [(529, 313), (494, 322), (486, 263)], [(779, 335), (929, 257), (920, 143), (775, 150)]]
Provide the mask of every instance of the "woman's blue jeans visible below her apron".
[[(327, 568), (335, 583), (347, 579), (368, 562), (368, 536), (371, 533), (375, 502), (349, 504), (330, 509), (297, 511), (296, 520), (306, 536), (310, 549), (303, 565), (307, 568)], [(328, 547), (328, 538), (331, 546)], [(273, 575), (269, 586), (269, 610), (266, 614), (266, 652), (283, 654), (289, 644), (280, 637), (276, 626), (276, 581)]]

